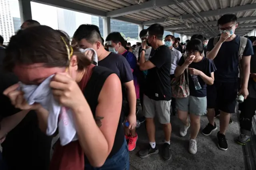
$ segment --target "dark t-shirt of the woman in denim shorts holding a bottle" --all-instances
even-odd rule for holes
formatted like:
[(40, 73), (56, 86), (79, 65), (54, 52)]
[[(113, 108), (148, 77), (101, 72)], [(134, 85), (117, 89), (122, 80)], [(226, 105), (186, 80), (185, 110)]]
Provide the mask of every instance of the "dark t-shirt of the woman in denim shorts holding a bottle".
[[(184, 64), (184, 56), (180, 58), (180, 61), (178, 63), (179, 66), (182, 66)], [(188, 68), (194, 68), (197, 70), (202, 71), (205, 75), (208, 77), (211, 77), (211, 73), (216, 71), (216, 67), (212, 60), (203, 57), (203, 59), (199, 62), (192, 62)], [(185, 75), (187, 76), (187, 73), (185, 72)], [(189, 86), (189, 91), (190, 91), (190, 96), (194, 97), (206, 97), (206, 83), (203, 81), (203, 79), (200, 76), (198, 77), (198, 82), (200, 83), (202, 89), (196, 90), (194, 82), (192, 80), (191, 75), (188, 75), (188, 86)]]

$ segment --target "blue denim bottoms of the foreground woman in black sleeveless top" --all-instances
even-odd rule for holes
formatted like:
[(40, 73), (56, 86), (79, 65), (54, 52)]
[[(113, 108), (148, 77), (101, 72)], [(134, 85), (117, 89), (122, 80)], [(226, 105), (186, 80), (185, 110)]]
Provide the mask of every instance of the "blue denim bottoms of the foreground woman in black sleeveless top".
[(111, 158), (108, 158), (100, 168), (94, 168), (89, 164), (84, 165), (85, 170), (129, 170), (129, 151), (126, 140), (120, 150)]

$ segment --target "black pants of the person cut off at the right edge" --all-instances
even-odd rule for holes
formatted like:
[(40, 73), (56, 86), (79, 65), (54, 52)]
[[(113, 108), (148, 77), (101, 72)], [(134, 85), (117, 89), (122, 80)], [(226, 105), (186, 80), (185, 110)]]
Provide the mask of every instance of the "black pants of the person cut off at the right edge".
[(247, 99), (240, 104), (240, 109), (241, 133), (250, 136), (252, 117), (254, 116), (256, 110), (256, 98), (247, 97)]

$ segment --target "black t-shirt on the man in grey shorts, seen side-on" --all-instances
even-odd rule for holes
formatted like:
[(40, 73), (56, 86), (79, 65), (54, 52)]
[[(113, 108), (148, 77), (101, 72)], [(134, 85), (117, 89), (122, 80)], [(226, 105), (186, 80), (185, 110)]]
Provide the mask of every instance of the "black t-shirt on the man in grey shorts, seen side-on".
[(169, 47), (166, 45), (158, 47), (149, 61), (156, 67), (148, 69), (144, 94), (156, 101), (171, 100), (171, 52)]

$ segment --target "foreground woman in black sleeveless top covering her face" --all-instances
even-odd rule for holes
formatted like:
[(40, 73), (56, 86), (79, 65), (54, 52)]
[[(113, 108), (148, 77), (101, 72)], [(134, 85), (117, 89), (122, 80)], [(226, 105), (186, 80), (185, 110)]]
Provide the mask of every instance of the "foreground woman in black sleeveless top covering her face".
[[(60, 105), (72, 110), (86, 170), (94, 167), (128, 170), (128, 149), (119, 122), (122, 107), (120, 80), (109, 69), (95, 66), (81, 90), (79, 85), (88, 74), (90, 56), (73, 48), (70, 39), (64, 36), (48, 26), (18, 32), (6, 49), (5, 67), (26, 85), (40, 85), (54, 75), (50, 81), (52, 94)], [(90, 52), (87, 54), (91, 55)], [(4, 95), (19, 109), (35, 110), (40, 128), (46, 132), (48, 111), (39, 104), (28, 105), (18, 87), (19, 84), (9, 87)]]

